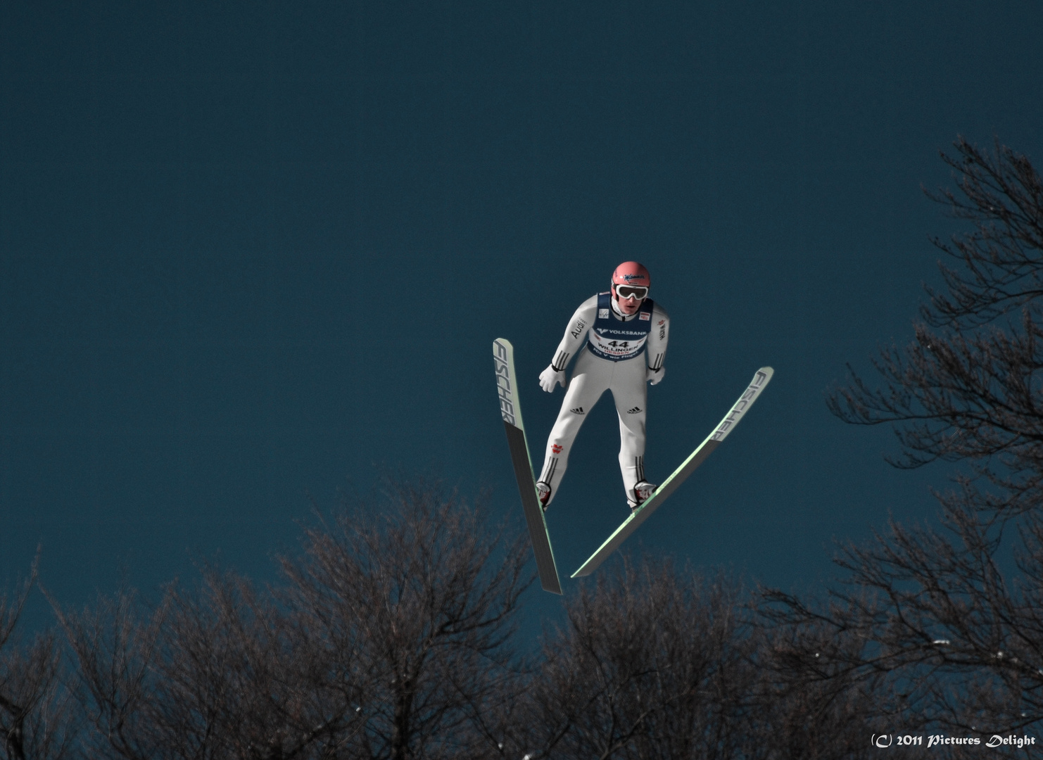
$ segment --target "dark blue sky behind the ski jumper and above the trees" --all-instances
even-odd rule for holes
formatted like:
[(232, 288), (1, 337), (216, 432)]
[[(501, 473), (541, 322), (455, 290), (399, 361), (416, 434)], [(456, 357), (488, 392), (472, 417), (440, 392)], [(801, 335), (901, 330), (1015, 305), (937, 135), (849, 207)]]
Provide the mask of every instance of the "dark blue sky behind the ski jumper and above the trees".
[[(651, 5), (0, 5), (0, 585), (41, 541), (67, 603), (218, 551), (267, 579), (306, 492), (382, 468), (520, 512), (491, 341), (541, 451), (537, 374), (627, 259), (673, 319), (651, 480), (776, 371), (633, 547), (801, 587), (931, 515), (945, 469), (893, 470), (823, 390), (912, 334), (938, 151), (1043, 163), (1043, 6)], [(605, 398), (563, 575), (626, 515), (617, 446)]]

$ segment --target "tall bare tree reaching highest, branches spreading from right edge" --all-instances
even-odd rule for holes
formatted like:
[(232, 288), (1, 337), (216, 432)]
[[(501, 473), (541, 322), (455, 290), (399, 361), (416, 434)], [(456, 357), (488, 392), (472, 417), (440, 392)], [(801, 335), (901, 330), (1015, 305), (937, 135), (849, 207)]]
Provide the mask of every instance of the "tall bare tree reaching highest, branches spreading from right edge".
[(940, 529), (892, 522), (843, 547), (829, 605), (767, 598), (787, 623), (850, 640), (829, 666), (887, 673), (906, 725), (1002, 733), (1043, 720), (1043, 185), (1009, 148), (955, 147), (943, 160), (957, 190), (928, 193), (971, 225), (935, 241), (955, 262), (945, 290), (928, 289), (914, 341), (874, 361), (882, 388), (852, 371), (828, 404), (894, 425), (897, 466), (965, 469), (936, 494)]

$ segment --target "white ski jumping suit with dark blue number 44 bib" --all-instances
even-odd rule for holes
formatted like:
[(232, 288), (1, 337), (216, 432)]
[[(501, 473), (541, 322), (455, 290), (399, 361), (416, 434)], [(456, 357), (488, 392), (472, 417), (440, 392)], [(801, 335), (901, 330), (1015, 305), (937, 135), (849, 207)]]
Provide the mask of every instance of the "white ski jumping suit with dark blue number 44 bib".
[[(551, 366), (562, 370), (579, 353), (558, 419), (547, 441), (539, 480), (551, 487), (550, 500), (568, 465), (568, 452), (583, 420), (606, 391), (612, 391), (620, 417), (620, 470), (631, 506), (634, 485), (645, 480), (647, 368), (658, 370), (666, 353), (670, 317), (646, 298), (637, 313), (624, 315), (610, 292), (583, 301), (558, 344)], [(583, 349), (584, 341), (586, 350)], [(550, 500), (548, 504), (550, 504)]]

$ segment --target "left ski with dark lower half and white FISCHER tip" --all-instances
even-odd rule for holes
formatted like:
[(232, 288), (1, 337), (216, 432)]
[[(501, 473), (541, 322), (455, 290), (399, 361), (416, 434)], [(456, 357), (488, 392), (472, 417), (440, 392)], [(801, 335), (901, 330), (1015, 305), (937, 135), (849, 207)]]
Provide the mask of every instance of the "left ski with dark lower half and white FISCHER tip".
[(510, 341), (498, 338), (492, 342), (492, 361), (496, 365), (496, 390), (500, 392), (500, 416), (504, 418), (507, 431), (507, 445), (511, 449), (514, 477), (522, 494), (522, 509), (529, 525), (532, 551), (536, 556), (536, 570), (544, 591), (561, 593), (558, 568), (554, 564), (551, 548), (551, 534), (547, 530), (543, 508), (536, 496), (536, 480), (532, 476), (532, 460), (529, 457), (529, 442), (522, 423), (522, 407), (518, 403), (517, 375), (514, 374), (514, 347)]

